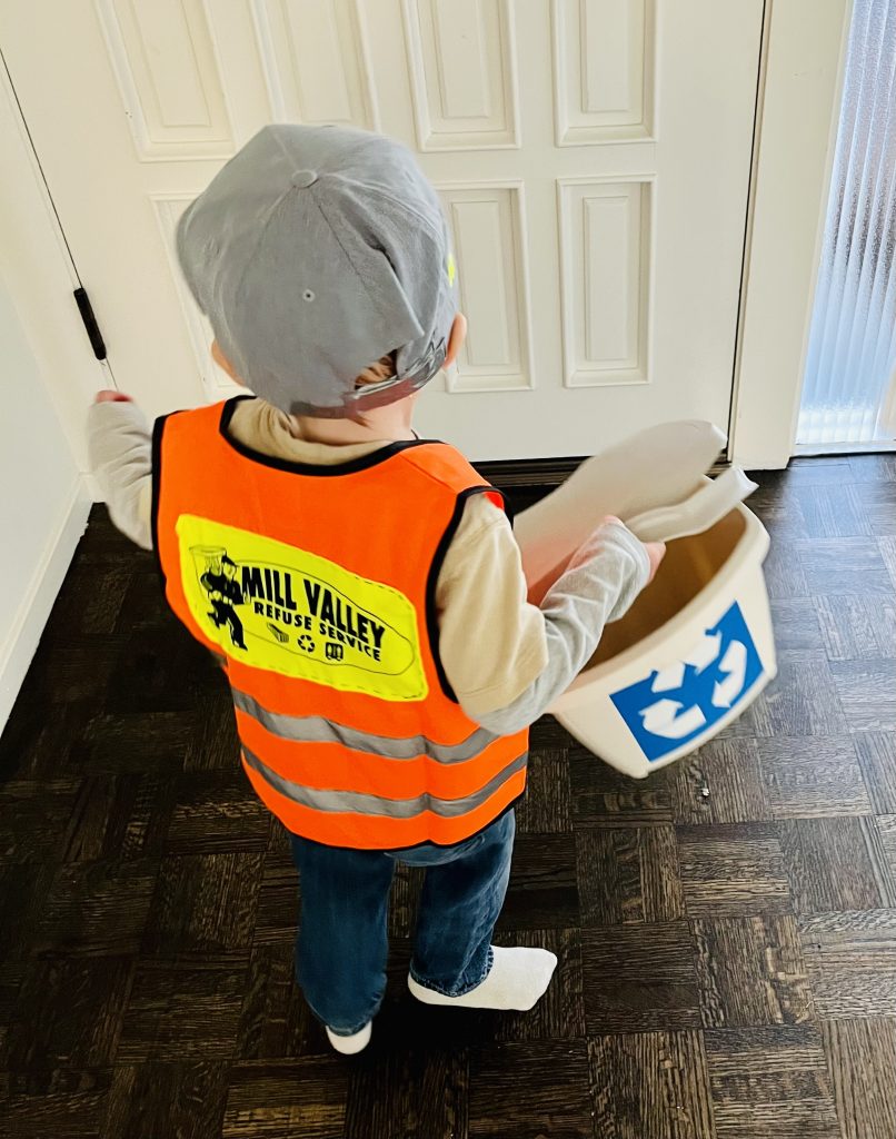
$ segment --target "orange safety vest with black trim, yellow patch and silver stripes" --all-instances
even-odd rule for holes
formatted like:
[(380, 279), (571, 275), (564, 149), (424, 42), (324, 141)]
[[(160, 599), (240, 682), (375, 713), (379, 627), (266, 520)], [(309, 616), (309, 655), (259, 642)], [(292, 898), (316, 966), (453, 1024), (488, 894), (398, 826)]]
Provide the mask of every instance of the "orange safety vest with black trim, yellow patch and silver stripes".
[(503, 498), (444, 443), (329, 467), (258, 454), (228, 434), (247, 398), (159, 419), (153, 453), (165, 593), (225, 661), (246, 775), (319, 843), (462, 842), (523, 794), (528, 732), (461, 710), (435, 591), (467, 498)]

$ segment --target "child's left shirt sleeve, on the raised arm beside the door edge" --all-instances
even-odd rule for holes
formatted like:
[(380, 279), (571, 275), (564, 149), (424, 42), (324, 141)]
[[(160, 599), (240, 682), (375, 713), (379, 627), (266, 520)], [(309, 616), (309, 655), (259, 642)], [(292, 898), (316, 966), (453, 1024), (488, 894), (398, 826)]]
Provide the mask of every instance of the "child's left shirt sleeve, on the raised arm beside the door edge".
[(109, 517), (132, 542), (153, 549), (153, 436), (135, 403), (93, 403), (88, 412), (90, 465)]

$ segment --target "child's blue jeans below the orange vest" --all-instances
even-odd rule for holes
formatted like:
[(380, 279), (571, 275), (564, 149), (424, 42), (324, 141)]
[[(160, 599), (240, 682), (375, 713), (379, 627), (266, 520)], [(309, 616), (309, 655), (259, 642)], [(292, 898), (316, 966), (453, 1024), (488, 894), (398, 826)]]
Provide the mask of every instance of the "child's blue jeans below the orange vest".
[(458, 846), (355, 851), (291, 835), (302, 880), (296, 978), (318, 1019), (351, 1035), (383, 1002), (396, 861), (427, 867), (411, 961), (414, 981), (447, 997), (484, 981), (515, 830), (511, 810)]

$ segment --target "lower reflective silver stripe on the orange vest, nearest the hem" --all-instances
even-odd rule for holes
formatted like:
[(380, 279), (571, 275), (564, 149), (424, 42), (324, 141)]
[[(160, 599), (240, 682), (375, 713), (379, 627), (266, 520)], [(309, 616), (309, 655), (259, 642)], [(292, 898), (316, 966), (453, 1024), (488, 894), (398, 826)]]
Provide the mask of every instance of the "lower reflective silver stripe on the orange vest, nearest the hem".
[(381, 798), (379, 795), (355, 790), (319, 790), (317, 787), (305, 787), (283, 779), (266, 763), (262, 763), (247, 747), (243, 748), (243, 756), (246, 763), (281, 795), (315, 811), (351, 811), (354, 814), (377, 814), (391, 819), (412, 819), (424, 811), (431, 811), (434, 814), (441, 814), (443, 819), (453, 819), (487, 802), (502, 784), (526, 767), (528, 752), (524, 752), (503, 771), (499, 771), (482, 790), (466, 798), (434, 798), (431, 795), (418, 795), (416, 798)]

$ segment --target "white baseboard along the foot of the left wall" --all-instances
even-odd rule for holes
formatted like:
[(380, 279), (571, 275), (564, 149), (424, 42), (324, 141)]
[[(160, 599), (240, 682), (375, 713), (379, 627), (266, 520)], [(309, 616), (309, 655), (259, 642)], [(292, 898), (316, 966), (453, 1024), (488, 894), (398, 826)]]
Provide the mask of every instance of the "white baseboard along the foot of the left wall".
[(0, 730), (9, 719), (72, 556), (87, 528), (91, 506), (92, 495), (85, 481), (79, 476), (35, 567), (32, 585), (13, 622), (9, 640), (0, 647)]

